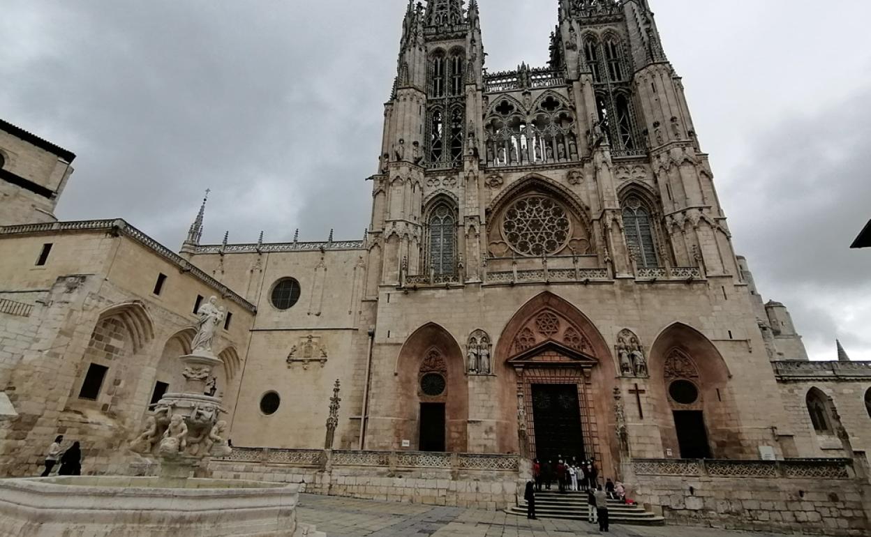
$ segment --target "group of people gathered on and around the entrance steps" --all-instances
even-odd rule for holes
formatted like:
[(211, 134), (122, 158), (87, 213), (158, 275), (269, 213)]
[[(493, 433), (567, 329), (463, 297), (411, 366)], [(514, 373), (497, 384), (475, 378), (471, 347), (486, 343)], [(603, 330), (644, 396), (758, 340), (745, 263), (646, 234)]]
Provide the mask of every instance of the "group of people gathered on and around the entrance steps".
[(557, 465), (550, 460), (541, 464), (537, 459), (532, 461), (532, 474), (535, 481), (526, 483), (526, 491), (523, 495), (526, 500), (526, 518), (537, 520), (536, 517), (536, 493), (550, 490), (550, 485), (557, 480), (560, 493), (569, 491), (586, 492), (588, 518), (591, 524), (598, 523), (599, 531), (607, 533), (609, 527), (608, 500), (626, 502), (626, 489), (621, 482), (605, 480), (604, 487), (598, 482), (598, 469), (592, 460), (584, 460), (577, 463), (572, 458), (566, 464), (560, 456)]

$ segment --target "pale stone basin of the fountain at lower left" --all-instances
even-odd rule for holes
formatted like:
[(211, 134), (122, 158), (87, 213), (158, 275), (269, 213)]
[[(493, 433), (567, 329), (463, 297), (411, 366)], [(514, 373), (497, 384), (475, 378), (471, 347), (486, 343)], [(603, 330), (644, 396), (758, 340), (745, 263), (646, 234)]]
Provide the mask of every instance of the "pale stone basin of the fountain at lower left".
[(83, 476), (0, 480), (0, 537), (308, 537), (299, 486)]

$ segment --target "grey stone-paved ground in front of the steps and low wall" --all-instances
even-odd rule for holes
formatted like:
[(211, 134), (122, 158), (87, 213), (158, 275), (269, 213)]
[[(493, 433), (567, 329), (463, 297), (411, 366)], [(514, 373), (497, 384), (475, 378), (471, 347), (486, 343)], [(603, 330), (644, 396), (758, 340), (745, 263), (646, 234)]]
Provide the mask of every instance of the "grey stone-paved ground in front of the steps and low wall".
[[(299, 520), (327, 537), (571, 537), (600, 535), (577, 520), (526, 520), (502, 512), (300, 494)], [(699, 527), (611, 526), (614, 537), (774, 537)]]

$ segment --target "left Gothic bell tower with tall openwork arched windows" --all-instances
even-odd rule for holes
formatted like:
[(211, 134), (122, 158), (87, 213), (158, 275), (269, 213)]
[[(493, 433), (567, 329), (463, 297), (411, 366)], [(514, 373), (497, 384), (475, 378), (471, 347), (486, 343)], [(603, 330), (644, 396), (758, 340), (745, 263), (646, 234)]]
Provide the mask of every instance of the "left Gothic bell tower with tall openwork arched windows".
[[(483, 47), (476, 0), (410, 0), (402, 21), (396, 77), (385, 104), (378, 173), (373, 180), (369, 228), (371, 266), (381, 266), (378, 285), (399, 285), (408, 274), (457, 279), (464, 241), (458, 238), (463, 196), (440, 212), (443, 258), (426, 256), (429, 216), (424, 196), (439, 185), (457, 185), (463, 171), (477, 168), (481, 134)], [(428, 174), (429, 172), (429, 174)], [(429, 178), (429, 187), (428, 187)], [(459, 191), (463, 191), (461, 187)], [(457, 256), (456, 254), (460, 255)], [(426, 260), (424, 260), (426, 259)], [(370, 281), (368, 294), (376, 292)]]

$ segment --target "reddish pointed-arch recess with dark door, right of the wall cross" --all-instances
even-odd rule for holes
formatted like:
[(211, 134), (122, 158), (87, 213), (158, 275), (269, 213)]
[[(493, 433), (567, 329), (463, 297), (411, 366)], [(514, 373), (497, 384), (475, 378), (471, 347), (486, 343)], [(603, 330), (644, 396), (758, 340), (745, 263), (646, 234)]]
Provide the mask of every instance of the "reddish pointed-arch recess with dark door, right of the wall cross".
[[(660, 332), (649, 359), (649, 399), (654, 406), (652, 420), (661, 435), (664, 454), (672, 457), (706, 455), (721, 459), (758, 456), (755, 448), (744, 446), (739, 413), (726, 361), (704, 334), (683, 323)], [(674, 383), (679, 382), (678, 385)], [(689, 385), (698, 390), (692, 401), (682, 396)], [(698, 444), (692, 446), (695, 439)], [(701, 446), (706, 443), (707, 449)], [(683, 449), (682, 449), (683, 447)]]

